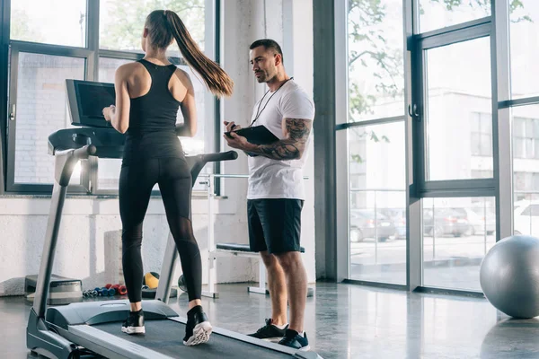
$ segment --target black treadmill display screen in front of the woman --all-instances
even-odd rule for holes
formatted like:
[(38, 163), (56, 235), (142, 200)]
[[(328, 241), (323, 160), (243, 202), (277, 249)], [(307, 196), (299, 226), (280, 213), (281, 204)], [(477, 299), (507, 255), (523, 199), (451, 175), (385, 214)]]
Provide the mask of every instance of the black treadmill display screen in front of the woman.
[(68, 79), (66, 90), (72, 125), (112, 128), (102, 109), (116, 104), (114, 83)]

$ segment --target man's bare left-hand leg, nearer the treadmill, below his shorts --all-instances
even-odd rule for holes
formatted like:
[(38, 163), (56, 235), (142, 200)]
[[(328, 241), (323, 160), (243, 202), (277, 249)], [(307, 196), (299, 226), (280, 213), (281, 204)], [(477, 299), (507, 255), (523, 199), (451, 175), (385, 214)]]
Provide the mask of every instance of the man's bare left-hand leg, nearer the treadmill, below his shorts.
[(272, 323), (282, 326), (288, 323), (287, 320), (287, 279), (283, 267), (279, 264), (278, 258), (267, 250), (261, 251), (261, 258), (268, 270), (268, 287), (271, 298), (271, 320)]

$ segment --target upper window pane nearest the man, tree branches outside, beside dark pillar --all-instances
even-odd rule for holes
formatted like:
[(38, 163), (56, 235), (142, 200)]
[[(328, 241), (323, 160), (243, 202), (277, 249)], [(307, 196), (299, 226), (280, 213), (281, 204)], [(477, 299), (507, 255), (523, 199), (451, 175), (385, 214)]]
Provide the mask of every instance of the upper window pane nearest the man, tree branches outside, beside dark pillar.
[(349, 122), (404, 115), (402, 1), (350, 1)]

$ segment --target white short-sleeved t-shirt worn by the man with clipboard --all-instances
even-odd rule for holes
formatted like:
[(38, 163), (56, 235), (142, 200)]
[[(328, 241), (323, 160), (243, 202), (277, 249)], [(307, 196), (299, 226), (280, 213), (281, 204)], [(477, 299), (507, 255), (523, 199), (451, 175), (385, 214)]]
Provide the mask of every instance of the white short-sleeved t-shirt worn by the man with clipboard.
[[(271, 96), (273, 94), (273, 96)], [(270, 100), (269, 100), (270, 99)], [(260, 103), (262, 101), (262, 103)], [(314, 101), (294, 82), (289, 80), (277, 92), (268, 92), (258, 101), (252, 111), (252, 120), (259, 118), (252, 126), (263, 125), (279, 139), (284, 139), (283, 118), (305, 118), (314, 120)], [(293, 198), (305, 200), (305, 180), (303, 167), (307, 150), (311, 144), (313, 130), (305, 144), (305, 151), (300, 159), (278, 161), (262, 155), (249, 156), (248, 199), (257, 198)]]

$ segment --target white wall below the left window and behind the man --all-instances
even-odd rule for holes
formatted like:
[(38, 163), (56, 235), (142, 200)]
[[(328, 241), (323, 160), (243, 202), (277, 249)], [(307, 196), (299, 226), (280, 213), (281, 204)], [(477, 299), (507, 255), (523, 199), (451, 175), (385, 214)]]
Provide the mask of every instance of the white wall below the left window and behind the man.
[[(285, 9), (285, 13), (283, 13)], [(291, 19), (293, 23), (283, 22)], [(309, 0), (223, 2), (223, 66), (235, 83), (234, 95), (223, 101), (224, 119), (247, 123), (252, 106), (265, 91), (255, 82), (249, 65), (249, 45), (255, 39), (276, 39), (285, 50), (287, 72), (294, 75), (307, 92), (313, 92), (312, 3)], [(283, 27), (285, 31), (283, 31)], [(294, 51), (292, 56), (286, 52)], [(287, 58), (288, 61), (287, 62)], [(297, 59), (297, 60), (296, 60)], [(228, 148), (223, 148), (227, 150)], [(314, 163), (313, 149), (305, 169), (307, 200), (302, 226), (305, 267), (314, 282)], [(225, 162), (225, 173), (247, 173), (243, 153), (234, 162)], [(246, 222), (247, 182), (223, 181), (224, 196), (216, 200), (216, 242), (248, 243)], [(0, 295), (23, 293), (24, 276), (37, 274), (47, 228), (50, 198), (0, 197)], [(207, 276), (208, 212), (204, 198), (193, 198), (193, 227), (203, 260), (203, 280)], [(106, 197), (68, 197), (58, 237), (53, 273), (83, 280), (84, 289), (120, 280), (120, 231), (118, 200)], [(153, 198), (144, 223), (143, 258), (146, 271), (160, 271), (168, 225), (160, 197)], [(174, 281), (180, 276), (178, 265)], [(258, 261), (249, 258), (219, 258), (218, 282), (258, 280)]]

